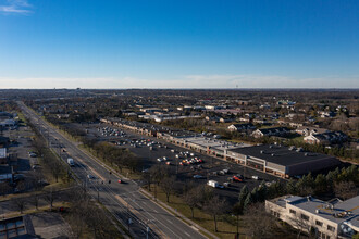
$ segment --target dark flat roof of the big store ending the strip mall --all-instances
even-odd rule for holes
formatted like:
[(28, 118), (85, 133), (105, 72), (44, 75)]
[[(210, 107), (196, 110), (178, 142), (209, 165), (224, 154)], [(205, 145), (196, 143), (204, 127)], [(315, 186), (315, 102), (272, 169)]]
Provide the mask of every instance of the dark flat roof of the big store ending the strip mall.
[(296, 149), (284, 146), (274, 146), (274, 144), (261, 144), (253, 147), (242, 147), (231, 149), (231, 152), (240, 153), (244, 155), (249, 155), (258, 159), (265, 160), (271, 163), (278, 165), (290, 166), (304, 162), (312, 162), (317, 160), (324, 159), (335, 159), (330, 155), (313, 153), (313, 152), (300, 152)]

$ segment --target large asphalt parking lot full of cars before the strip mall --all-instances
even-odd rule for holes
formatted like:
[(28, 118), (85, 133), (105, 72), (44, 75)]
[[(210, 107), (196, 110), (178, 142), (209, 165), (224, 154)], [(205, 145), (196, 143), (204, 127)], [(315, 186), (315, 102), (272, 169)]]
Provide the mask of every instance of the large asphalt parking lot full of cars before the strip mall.
[[(144, 161), (144, 171), (156, 164), (164, 164), (172, 167), (181, 180), (195, 180), (198, 184), (215, 180), (220, 186), (226, 186), (227, 184), (224, 183), (230, 183), (227, 187), (215, 188), (215, 192), (225, 196), (230, 201), (237, 200), (244, 185), (251, 190), (262, 180), (270, 184), (280, 179), (273, 175), (173, 146), (154, 137), (137, 135), (106, 124), (84, 126), (89, 135), (100, 140), (128, 148)], [(232, 181), (233, 176), (238, 174), (244, 176), (244, 181)]]

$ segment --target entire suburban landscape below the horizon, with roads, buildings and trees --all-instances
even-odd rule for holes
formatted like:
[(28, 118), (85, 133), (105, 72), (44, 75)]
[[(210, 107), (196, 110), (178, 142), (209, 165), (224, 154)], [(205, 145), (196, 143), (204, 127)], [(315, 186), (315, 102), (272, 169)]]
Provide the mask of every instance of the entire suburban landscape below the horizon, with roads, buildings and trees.
[[(4, 234), (358, 232), (358, 90), (57, 89), (1, 96)], [(18, 224), (15, 230), (9, 221)]]

